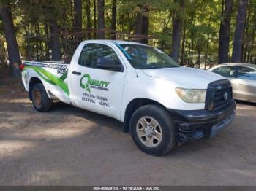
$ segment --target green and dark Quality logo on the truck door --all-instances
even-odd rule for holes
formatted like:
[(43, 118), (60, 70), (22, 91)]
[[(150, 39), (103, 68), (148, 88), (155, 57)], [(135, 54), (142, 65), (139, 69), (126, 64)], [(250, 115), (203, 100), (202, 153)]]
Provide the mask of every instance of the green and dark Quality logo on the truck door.
[[(86, 83), (85, 83), (86, 82)], [(101, 81), (98, 79), (91, 79), (90, 74), (84, 74), (80, 79), (80, 86), (91, 93), (91, 88), (98, 90), (108, 91), (108, 85), (110, 82)]]

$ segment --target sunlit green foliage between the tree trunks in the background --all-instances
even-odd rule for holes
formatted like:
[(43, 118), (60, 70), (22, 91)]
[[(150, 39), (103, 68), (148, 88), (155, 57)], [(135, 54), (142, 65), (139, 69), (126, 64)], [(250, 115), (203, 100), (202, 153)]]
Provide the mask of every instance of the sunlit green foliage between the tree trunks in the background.
[[(86, 3), (83, 0), (83, 28), (86, 28)], [(255, 28), (256, 28), (256, 0), (248, 0), (249, 9), (246, 23), (246, 34), (244, 36), (244, 51), (246, 58), (255, 59)], [(233, 7), (231, 20), (230, 42), (233, 41), (233, 32), (236, 26), (237, 1)], [(10, 3), (12, 15), (14, 17), (16, 34), (20, 52), (24, 58), (48, 59), (50, 50), (50, 21), (54, 18), (58, 20), (60, 28), (59, 34), (73, 31), (73, 1), (69, 0), (1, 0), (0, 5)], [(148, 35), (153, 39), (149, 44), (157, 46), (170, 54), (172, 44), (172, 20), (173, 16), (181, 17), (184, 20), (184, 63), (196, 63), (197, 53), (202, 57), (208, 55), (208, 63), (217, 63), (219, 24), (222, 20), (222, 0), (184, 0), (184, 9), (180, 6), (181, 0), (118, 0), (116, 29), (117, 31), (134, 34), (135, 17), (138, 13), (149, 17)], [(149, 13), (143, 9), (147, 7)], [(112, 0), (105, 0), (105, 26), (110, 28), (112, 16)], [(94, 0), (91, 0), (91, 28), (94, 28)], [(97, 10), (96, 10), (97, 11)], [(249, 14), (250, 12), (250, 14)], [(2, 23), (0, 18), (0, 35), (2, 33)], [(27, 39), (26, 36), (39, 36), (38, 38)], [(107, 33), (107, 38), (110, 34)], [(130, 36), (120, 35), (120, 39), (131, 39)], [(75, 50), (77, 44), (72, 42), (75, 37), (60, 36), (61, 52), (64, 50), (71, 52)], [(83, 36), (86, 39), (86, 34)], [(230, 50), (232, 43), (230, 43)], [(182, 47), (181, 47), (182, 48)], [(247, 49), (246, 49), (247, 48)], [(29, 49), (29, 50), (28, 50)], [(191, 58), (193, 55), (193, 58)], [(180, 56), (181, 58), (181, 56)]]

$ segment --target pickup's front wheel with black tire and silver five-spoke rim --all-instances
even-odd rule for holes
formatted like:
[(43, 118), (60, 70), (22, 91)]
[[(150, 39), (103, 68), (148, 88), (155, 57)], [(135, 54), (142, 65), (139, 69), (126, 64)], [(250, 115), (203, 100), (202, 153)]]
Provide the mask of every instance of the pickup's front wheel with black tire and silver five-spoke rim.
[(165, 155), (176, 145), (173, 120), (161, 106), (141, 106), (132, 114), (129, 128), (135, 144), (149, 155)]

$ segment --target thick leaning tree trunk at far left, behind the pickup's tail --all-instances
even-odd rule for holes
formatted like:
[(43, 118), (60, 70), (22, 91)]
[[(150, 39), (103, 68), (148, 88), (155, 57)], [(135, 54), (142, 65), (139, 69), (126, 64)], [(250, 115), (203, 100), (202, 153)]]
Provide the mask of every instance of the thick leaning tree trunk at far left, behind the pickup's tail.
[(7, 41), (7, 51), (9, 57), (10, 68), (13, 77), (20, 77), (20, 69), (18, 64), (21, 63), (20, 53), (18, 49), (17, 39), (15, 36), (15, 28), (12, 19), (12, 9), (10, 4), (3, 4), (0, 7), (1, 19), (4, 23), (4, 36)]

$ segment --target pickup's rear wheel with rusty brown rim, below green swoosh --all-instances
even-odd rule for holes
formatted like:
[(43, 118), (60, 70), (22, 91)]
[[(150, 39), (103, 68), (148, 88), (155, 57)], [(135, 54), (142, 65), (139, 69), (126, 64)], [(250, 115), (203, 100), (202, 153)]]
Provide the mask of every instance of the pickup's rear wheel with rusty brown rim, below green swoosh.
[(31, 89), (31, 95), (34, 109), (38, 112), (48, 112), (50, 110), (53, 101), (48, 97), (44, 85), (34, 85)]

